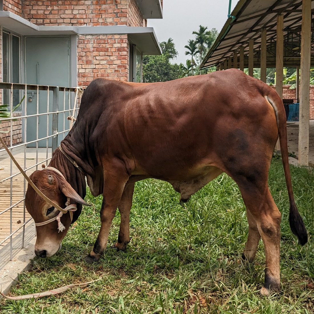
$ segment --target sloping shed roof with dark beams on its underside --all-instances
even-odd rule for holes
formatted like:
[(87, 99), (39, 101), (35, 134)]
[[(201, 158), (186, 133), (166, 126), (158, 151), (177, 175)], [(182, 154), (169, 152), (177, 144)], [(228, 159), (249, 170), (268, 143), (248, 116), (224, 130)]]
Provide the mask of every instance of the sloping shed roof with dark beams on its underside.
[[(314, 12), (314, 0), (311, 1)], [(248, 43), (254, 40), (254, 67), (260, 67), (261, 29), (267, 30), (267, 67), (275, 66), (274, 45), (277, 40), (277, 16), (284, 15), (284, 67), (300, 65), (300, 30), (302, 21), (301, 0), (240, 0), (225, 22), (214, 45), (205, 56), (200, 68), (217, 66), (234, 52), (244, 47), (248, 54)], [(312, 19), (313, 21), (313, 19)], [(312, 30), (313, 31), (313, 30)], [(314, 52), (314, 43), (312, 42)], [(245, 67), (248, 59), (245, 57)], [(311, 57), (314, 66), (314, 55)]]

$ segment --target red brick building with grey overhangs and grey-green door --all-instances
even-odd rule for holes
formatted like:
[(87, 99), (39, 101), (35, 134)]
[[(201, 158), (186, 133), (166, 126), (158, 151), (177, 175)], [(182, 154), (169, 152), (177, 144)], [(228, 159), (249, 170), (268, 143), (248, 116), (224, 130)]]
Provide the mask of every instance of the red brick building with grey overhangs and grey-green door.
[[(162, 0), (0, 0), (0, 81), (69, 87), (86, 87), (98, 77), (141, 82), (142, 56), (161, 53), (149, 18), (162, 18)], [(28, 102), (36, 101), (34, 92), (27, 94)], [(14, 91), (13, 105), (22, 96)], [(0, 97), (9, 103), (8, 90)], [(14, 124), (16, 144), (23, 140), (22, 122)]]

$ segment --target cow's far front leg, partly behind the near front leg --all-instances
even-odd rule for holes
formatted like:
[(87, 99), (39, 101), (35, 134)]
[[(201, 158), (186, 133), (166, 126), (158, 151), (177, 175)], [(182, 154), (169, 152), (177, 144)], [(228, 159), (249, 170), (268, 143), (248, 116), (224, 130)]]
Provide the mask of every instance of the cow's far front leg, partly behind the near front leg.
[(118, 242), (116, 242), (115, 247), (121, 251), (125, 251), (127, 244), (130, 242), (130, 210), (132, 207), (133, 191), (134, 183), (126, 185), (118, 205), (121, 223)]

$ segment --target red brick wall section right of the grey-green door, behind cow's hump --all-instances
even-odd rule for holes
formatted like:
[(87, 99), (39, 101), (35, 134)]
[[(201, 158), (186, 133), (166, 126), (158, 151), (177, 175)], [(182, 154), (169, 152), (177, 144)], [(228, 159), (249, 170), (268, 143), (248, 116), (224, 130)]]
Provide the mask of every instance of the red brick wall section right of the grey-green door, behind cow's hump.
[(104, 77), (128, 79), (127, 35), (85, 35), (78, 38), (78, 85)]

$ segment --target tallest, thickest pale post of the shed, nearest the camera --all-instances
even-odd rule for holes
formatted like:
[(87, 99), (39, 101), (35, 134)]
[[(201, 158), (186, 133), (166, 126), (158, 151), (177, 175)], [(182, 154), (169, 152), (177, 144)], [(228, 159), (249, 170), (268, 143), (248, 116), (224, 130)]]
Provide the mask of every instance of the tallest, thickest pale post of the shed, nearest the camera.
[(301, 73), (299, 108), (299, 164), (309, 165), (311, 0), (302, 1)]

